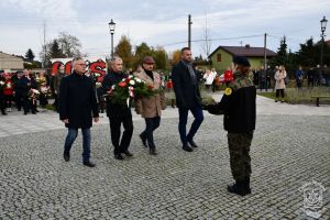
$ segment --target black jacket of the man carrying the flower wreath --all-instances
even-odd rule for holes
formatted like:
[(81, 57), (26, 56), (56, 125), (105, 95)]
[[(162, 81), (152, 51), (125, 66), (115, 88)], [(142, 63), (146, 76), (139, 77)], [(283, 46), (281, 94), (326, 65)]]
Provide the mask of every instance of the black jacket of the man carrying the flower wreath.
[[(128, 75), (123, 73), (109, 73), (105, 76), (102, 81), (102, 94), (106, 95), (107, 91), (111, 89), (113, 85), (117, 85), (123, 78), (127, 78)], [(107, 116), (112, 117), (132, 117), (131, 109), (127, 103), (119, 105), (112, 103), (109, 99), (107, 101)]]

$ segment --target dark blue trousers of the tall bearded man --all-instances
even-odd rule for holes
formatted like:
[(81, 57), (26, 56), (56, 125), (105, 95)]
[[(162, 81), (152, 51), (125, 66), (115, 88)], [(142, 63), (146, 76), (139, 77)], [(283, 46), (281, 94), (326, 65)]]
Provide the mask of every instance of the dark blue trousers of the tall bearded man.
[[(186, 146), (188, 141), (193, 141), (196, 132), (198, 131), (202, 120), (204, 120), (204, 113), (202, 113), (202, 108), (199, 105), (196, 105), (193, 108), (179, 108), (179, 124), (178, 124), (178, 130), (180, 134), (180, 140), (183, 142), (183, 145)], [(187, 134), (186, 131), (186, 125), (188, 121), (188, 112), (191, 111), (195, 120), (190, 127), (190, 130)]]

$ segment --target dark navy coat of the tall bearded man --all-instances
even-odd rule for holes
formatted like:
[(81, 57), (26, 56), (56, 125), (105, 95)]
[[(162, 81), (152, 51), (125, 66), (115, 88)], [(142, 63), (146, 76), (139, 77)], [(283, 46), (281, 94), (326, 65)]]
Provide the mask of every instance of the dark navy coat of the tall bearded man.
[(194, 72), (196, 75), (196, 85), (191, 84), (188, 67), (182, 61), (172, 69), (173, 87), (178, 108), (193, 108), (195, 105), (201, 105), (198, 87), (200, 74), (195, 68)]

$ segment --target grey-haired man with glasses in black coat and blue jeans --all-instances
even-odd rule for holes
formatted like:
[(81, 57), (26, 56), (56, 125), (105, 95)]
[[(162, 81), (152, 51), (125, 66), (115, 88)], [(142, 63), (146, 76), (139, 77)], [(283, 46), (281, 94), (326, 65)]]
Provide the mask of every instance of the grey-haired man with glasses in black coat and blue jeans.
[(97, 98), (94, 91), (92, 81), (84, 75), (86, 64), (81, 57), (74, 58), (73, 74), (64, 77), (59, 86), (58, 109), (59, 119), (68, 128), (68, 134), (64, 145), (64, 160), (70, 158), (70, 148), (78, 135), (78, 129), (82, 132), (82, 163), (94, 167), (90, 158), (90, 128), (92, 119), (99, 121)]

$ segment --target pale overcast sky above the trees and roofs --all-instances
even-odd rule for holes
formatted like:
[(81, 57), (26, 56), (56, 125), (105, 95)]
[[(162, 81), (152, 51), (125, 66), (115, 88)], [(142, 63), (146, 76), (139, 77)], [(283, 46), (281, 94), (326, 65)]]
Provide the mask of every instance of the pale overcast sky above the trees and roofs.
[(187, 45), (188, 14), (195, 56), (206, 55), (200, 41), (206, 29), (211, 52), (219, 45), (263, 46), (264, 33), (270, 50), (276, 52), (286, 35), (295, 52), (310, 36), (320, 40), (320, 20), (330, 19), (330, 0), (1, 0), (0, 51), (24, 55), (31, 47), (37, 56), (45, 24), (46, 42), (64, 31), (77, 36), (89, 56), (109, 55), (108, 23), (113, 19), (114, 45), (124, 34), (132, 45), (146, 42), (172, 52)]

